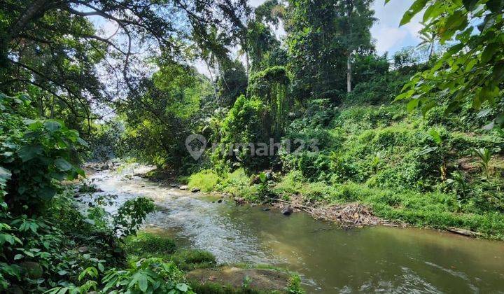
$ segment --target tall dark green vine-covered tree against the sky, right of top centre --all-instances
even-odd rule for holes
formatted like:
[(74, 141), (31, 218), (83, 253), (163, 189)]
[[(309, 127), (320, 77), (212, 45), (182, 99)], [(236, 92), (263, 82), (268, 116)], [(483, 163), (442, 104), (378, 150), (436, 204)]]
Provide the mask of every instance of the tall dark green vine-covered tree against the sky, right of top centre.
[(295, 97), (338, 99), (351, 90), (352, 55), (372, 50), (370, 3), (289, 1), (285, 25)]

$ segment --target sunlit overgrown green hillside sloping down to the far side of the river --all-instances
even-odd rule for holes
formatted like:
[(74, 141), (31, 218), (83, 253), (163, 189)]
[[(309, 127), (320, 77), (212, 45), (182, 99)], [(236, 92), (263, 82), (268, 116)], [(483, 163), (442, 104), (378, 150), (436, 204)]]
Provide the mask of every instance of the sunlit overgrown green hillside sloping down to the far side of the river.
[[(281, 169), (271, 179), (245, 169), (204, 169), (179, 180), (250, 202), (292, 196), (316, 207), (359, 202), (391, 221), (504, 238), (504, 141), (496, 133), (464, 130), (465, 116), (421, 118), (402, 105), (312, 111), (286, 137), (314, 137), (320, 152), (279, 156)], [(311, 127), (322, 114), (325, 127)], [(479, 156), (485, 151), (489, 160)]]

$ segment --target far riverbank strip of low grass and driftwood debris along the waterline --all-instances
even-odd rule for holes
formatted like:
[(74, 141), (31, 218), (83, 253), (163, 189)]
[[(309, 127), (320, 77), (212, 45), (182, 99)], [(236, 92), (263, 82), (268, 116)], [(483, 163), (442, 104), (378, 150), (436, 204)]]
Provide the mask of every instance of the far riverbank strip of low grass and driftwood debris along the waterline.
[[(463, 213), (456, 206), (454, 195), (442, 192), (393, 191), (358, 183), (313, 183), (296, 172), (286, 175), (270, 174), (266, 183), (258, 183), (257, 176), (247, 176), (243, 169), (224, 175), (211, 170), (188, 177), (174, 178), (166, 175), (165, 172), (155, 170), (148, 177), (155, 181), (177, 182), (187, 186), (188, 190), (196, 188), (203, 192), (223, 193), (238, 203), (276, 203), (281, 209), (288, 202), (293, 209), (307, 211), (314, 218), (340, 221), (346, 228), (381, 224), (412, 225), (469, 237), (504, 239), (504, 214)], [(354, 209), (360, 207), (365, 214), (346, 214), (346, 219), (342, 220), (342, 211), (352, 206)]]

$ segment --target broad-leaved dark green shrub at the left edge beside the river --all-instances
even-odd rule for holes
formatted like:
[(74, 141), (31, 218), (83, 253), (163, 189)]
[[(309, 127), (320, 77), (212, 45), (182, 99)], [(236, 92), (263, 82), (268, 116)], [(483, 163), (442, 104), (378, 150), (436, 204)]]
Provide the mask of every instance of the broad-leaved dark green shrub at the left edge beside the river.
[[(78, 148), (87, 146), (76, 130), (58, 120), (31, 120), (19, 113), (31, 109), (29, 97), (8, 97), (0, 93), (0, 165), (6, 183), (5, 202), (10, 211), (34, 214), (61, 187), (57, 181), (84, 176), (71, 162)], [(24, 124), (20, 122), (24, 121)]]

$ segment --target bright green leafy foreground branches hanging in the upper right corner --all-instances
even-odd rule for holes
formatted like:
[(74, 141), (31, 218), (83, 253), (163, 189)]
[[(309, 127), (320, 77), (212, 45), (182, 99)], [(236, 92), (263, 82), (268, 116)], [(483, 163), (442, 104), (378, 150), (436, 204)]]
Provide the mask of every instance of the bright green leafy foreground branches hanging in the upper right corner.
[(430, 69), (417, 73), (396, 99), (409, 99), (408, 108), (424, 114), (440, 99), (449, 101), (446, 113), (470, 103), (479, 117), (491, 115), (487, 129), (503, 127), (504, 113), (498, 110), (504, 81), (503, 10), (500, 0), (414, 1), (400, 25), (424, 11), (423, 31), (435, 31), (441, 44), (453, 45)]

